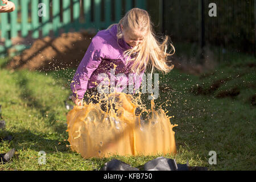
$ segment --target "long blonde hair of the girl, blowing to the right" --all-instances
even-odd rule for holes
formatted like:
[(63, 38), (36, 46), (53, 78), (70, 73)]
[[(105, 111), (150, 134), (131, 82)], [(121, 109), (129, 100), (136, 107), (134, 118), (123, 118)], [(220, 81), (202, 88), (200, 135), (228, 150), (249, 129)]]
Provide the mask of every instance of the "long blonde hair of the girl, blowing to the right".
[[(131, 66), (132, 72), (139, 74), (147, 68), (148, 64), (151, 64), (152, 66), (151, 76), (154, 67), (164, 73), (168, 73), (174, 68), (174, 65), (167, 65), (167, 57), (174, 55), (175, 48), (171, 44), (172, 49), (167, 53), (167, 44), (169, 42), (168, 36), (165, 37), (163, 43), (156, 40), (156, 36), (152, 30), (150, 16), (146, 10), (134, 8), (126, 13), (118, 23), (117, 41), (123, 37), (121, 25), (123, 26), (124, 32), (134, 30), (146, 32), (146, 36), (141, 44), (134, 46), (123, 53), (125, 56), (130, 57), (129, 62), (134, 61)], [(114, 26), (114, 24), (107, 30), (112, 26)], [(174, 52), (170, 54), (172, 51)]]

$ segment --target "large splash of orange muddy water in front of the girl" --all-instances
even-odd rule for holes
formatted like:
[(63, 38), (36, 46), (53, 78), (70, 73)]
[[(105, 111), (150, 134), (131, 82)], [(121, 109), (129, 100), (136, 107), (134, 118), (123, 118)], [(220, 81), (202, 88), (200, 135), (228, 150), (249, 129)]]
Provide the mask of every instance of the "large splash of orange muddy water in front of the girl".
[[(110, 94), (115, 108), (102, 111), (99, 104), (75, 106), (67, 115), (68, 141), (71, 149), (83, 158), (103, 158), (110, 155), (176, 154), (174, 131), (163, 109), (143, 109), (147, 119), (135, 115), (141, 107), (125, 93)], [(108, 97), (110, 98), (110, 97)], [(114, 98), (114, 99), (113, 99)], [(140, 99), (140, 98), (139, 98)]]

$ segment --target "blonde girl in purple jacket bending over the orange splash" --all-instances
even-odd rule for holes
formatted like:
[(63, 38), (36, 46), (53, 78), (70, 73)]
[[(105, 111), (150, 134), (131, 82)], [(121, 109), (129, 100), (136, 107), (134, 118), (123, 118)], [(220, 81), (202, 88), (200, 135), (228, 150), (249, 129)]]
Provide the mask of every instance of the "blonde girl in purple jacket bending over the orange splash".
[[(143, 73), (149, 64), (152, 71), (155, 67), (164, 73), (170, 72), (174, 65), (167, 65), (167, 56), (173, 54), (167, 53), (167, 43), (168, 36), (162, 44), (156, 40), (147, 11), (131, 9), (118, 24), (99, 31), (92, 39), (71, 82), (73, 102), (82, 106), (85, 92), (88, 97), (96, 95), (96, 86), (102, 82), (98, 75), (105, 73), (110, 79), (111, 69), (114, 69), (115, 75), (122, 73), (115, 77), (115, 84), (122, 82), (122, 85), (125, 83), (128, 86), (128, 75), (135, 74), (134, 90), (139, 89)], [(172, 50), (175, 52), (173, 46)], [(120, 87), (115, 92), (123, 92), (123, 88)], [(96, 103), (97, 100), (93, 102)]]

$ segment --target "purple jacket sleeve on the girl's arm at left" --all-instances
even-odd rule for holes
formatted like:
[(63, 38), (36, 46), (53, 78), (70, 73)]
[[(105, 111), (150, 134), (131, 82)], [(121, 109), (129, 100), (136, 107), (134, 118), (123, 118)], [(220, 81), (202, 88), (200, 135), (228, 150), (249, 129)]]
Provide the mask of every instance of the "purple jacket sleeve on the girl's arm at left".
[(100, 46), (93, 39), (71, 82), (71, 90), (76, 98), (81, 100), (84, 97), (89, 78), (101, 63), (101, 56)]

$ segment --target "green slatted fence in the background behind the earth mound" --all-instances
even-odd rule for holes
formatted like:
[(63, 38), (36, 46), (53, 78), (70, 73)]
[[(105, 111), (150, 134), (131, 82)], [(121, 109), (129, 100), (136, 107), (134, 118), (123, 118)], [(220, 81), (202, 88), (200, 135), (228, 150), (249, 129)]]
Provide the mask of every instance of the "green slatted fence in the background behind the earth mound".
[[(100, 30), (117, 23), (126, 11), (133, 7), (146, 9), (146, 0), (11, 0), (16, 5), (12, 13), (0, 14), (0, 54), (14, 48), (22, 51), (29, 45), (14, 45), (17, 36), (32, 39), (45, 37), (50, 32), (58, 36), (81, 28)], [(44, 4), (40, 4), (44, 3)], [(45, 16), (39, 11), (46, 7)], [(41, 11), (40, 11), (41, 12)]]

